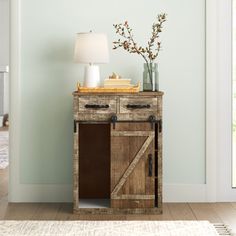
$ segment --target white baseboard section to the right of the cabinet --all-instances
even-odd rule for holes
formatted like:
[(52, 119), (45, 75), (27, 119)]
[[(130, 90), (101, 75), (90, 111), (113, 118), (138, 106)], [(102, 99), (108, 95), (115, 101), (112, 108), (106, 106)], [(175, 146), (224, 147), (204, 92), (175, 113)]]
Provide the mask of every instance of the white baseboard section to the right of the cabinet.
[(206, 202), (206, 184), (164, 184), (164, 202)]

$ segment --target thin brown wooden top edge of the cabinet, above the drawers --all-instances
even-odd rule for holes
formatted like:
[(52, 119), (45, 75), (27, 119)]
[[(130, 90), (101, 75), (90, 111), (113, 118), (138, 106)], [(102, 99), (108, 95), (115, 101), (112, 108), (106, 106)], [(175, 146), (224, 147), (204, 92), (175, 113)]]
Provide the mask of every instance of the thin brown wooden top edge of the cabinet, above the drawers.
[(73, 96), (163, 96), (164, 92), (138, 92), (138, 93), (80, 93), (73, 92)]

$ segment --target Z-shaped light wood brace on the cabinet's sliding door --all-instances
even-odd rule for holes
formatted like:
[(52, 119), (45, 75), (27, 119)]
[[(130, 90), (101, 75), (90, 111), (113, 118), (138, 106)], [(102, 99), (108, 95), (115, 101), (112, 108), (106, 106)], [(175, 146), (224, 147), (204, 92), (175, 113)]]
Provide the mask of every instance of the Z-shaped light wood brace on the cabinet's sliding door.
[(118, 195), (118, 192), (122, 188), (122, 186), (125, 184), (127, 178), (130, 176), (130, 174), (135, 169), (136, 165), (139, 163), (140, 159), (142, 158), (143, 154), (147, 150), (148, 146), (151, 144), (155, 137), (154, 131), (112, 131), (111, 136), (117, 137), (117, 136), (147, 136), (147, 139), (143, 143), (142, 147), (139, 149), (138, 153), (134, 157), (131, 164), (128, 166), (126, 171), (124, 172), (123, 176), (121, 177), (118, 184), (115, 186), (111, 193), (112, 199), (155, 199), (155, 195)]

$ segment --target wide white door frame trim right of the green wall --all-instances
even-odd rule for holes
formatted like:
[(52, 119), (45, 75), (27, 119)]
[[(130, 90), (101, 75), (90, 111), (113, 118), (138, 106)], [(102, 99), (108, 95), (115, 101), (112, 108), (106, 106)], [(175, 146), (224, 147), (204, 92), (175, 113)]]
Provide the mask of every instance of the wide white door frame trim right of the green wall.
[(232, 0), (206, 0), (206, 200), (232, 189)]

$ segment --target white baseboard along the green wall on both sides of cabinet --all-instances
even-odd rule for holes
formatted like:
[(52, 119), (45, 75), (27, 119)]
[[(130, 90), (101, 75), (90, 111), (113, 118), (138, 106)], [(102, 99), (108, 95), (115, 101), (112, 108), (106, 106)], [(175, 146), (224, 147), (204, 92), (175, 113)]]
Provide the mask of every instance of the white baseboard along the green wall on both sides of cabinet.
[[(164, 184), (164, 202), (205, 202), (205, 184)], [(72, 185), (18, 185), (10, 202), (72, 202)]]

